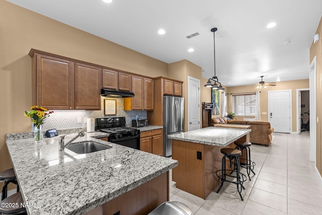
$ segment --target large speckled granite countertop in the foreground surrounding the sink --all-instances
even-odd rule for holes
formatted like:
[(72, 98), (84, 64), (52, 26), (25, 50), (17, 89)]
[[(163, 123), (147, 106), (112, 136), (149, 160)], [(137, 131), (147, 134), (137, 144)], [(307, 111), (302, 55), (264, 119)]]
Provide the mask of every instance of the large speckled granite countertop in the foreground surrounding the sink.
[[(23, 198), (35, 205), (27, 207), (28, 214), (83, 214), (178, 165), (172, 159), (92, 137), (103, 134), (88, 133), (75, 140), (112, 147), (89, 154), (59, 152), (59, 136), (35, 144), (30, 133), (7, 134)], [(75, 135), (66, 135), (65, 142)]]

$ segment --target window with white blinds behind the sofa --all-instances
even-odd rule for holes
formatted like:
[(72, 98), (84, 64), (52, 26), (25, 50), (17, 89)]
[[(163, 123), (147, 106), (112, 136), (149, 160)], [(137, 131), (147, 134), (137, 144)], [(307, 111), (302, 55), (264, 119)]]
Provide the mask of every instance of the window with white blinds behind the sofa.
[(232, 95), (232, 112), (237, 116), (255, 116), (256, 94)]

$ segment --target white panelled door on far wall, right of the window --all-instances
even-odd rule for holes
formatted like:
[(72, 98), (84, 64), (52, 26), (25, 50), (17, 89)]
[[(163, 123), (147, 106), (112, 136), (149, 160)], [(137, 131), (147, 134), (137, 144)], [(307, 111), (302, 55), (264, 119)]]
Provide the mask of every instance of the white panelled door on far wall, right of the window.
[(269, 120), (274, 132), (291, 132), (291, 91), (269, 91)]

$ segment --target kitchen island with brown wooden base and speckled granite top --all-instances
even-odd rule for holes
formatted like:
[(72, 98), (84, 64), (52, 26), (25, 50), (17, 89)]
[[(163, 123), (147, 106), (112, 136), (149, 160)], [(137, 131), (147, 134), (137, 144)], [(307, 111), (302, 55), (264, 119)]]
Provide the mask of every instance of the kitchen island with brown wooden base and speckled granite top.
[(206, 199), (218, 186), (214, 172), (221, 169), (220, 149), (235, 148), (233, 142), (249, 141), (251, 129), (206, 127), (169, 135), (172, 158), (179, 162), (172, 170), (176, 187)]

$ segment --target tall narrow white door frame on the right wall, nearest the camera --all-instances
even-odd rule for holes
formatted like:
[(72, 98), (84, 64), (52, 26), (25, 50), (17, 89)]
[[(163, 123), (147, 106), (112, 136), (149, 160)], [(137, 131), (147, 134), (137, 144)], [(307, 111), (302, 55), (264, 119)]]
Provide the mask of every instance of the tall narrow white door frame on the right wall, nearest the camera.
[[(312, 75), (312, 77), (311, 77)], [(316, 167), (316, 56), (309, 67), (310, 84), (310, 154), (309, 159)]]

